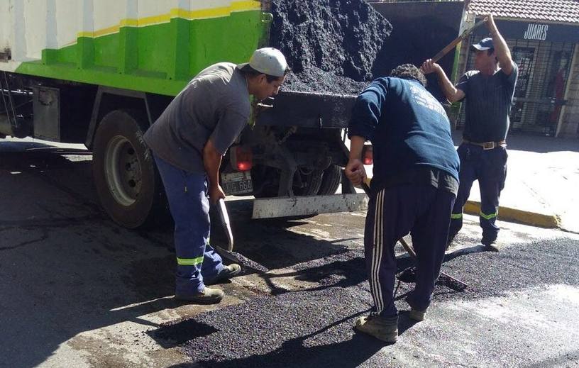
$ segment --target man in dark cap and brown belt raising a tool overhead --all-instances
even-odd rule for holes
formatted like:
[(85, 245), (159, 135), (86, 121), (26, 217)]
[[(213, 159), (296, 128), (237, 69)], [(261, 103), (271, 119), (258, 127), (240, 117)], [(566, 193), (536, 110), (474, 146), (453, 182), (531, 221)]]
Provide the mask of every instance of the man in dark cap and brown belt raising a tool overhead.
[(458, 147), (461, 157), (461, 186), (451, 215), (447, 246), (463, 225), (463, 206), (470, 188), (478, 179), (480, 187), (480, 226), (483, 245), (498, 251), (496, 240), (499, 227), (495, 223), (499, 210), (500, 192), (507, 176), (507, 132), (514, 87), (519, 69), (500, 35), (492, 15), (487, 16), (490, 38), (472, 45), (475, 70), (466, 72), (453, 86), (440, 65), (426, 60), (421, 69), (425, 74), (436, 72), (448, 101), (466, 104), (463, 143)]

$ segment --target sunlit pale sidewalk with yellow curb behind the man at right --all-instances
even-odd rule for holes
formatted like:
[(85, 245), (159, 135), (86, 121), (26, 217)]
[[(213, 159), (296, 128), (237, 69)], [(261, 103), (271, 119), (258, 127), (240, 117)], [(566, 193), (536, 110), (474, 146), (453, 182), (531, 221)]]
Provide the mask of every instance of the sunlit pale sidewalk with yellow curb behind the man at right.
[[(455, 145), (461, 137), (462, 131), (453, 131)], [(579, 139), (513, 134), (507, 144), (499, 220), (579, 233)], [(465, 212), (478, 215), (479, 208), (475, 182)]]

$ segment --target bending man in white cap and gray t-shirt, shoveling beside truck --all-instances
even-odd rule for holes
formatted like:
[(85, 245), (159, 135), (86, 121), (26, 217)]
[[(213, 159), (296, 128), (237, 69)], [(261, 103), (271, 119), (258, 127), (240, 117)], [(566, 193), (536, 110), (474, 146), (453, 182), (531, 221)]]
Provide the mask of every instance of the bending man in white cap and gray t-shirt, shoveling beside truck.
[(250, 119), (250, 95), (275, 96), (289, 68), (275, 48), (255, 50), (249, 62), (219, 62), (199, 72), (147, 130), (175, 221), (175, 298), (219, 303), (224, 292), (206, 285), (239, 274), (209, 245), (209, 202), (225, 198), (221, 157)]

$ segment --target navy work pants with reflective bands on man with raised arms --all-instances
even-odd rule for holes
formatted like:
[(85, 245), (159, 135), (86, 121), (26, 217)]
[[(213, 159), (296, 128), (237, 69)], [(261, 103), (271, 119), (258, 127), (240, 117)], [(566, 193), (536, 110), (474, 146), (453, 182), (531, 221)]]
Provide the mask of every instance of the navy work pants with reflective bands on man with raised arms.
[(451, 215), (450, 236), (456, 235), (463, 227), (463, 208), (468, 201), (470, 188), (478, 180), (480, 188), (480, 227), (483, 228), (483, 239), (497, 239), (499, 227), (495, 224), (499, 214), (499, 197), (507, 177), (507, 149), (496, 147), (484, 150), (478, 145), (463, 143), (458, 147), (461, 158), (460, 186)]

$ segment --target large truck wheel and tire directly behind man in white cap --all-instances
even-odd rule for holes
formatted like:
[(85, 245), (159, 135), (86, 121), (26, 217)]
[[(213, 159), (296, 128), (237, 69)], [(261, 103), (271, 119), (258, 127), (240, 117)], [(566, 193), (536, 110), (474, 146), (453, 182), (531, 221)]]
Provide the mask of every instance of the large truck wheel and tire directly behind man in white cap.
[(145, 124), (138, 111), (111, 111), (94, 137), (93, 176), (101, 206), (131, 229), (153, 225), (155, 211), (166, 208), (153, 155), (143, 141)]

